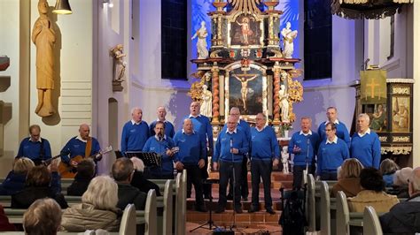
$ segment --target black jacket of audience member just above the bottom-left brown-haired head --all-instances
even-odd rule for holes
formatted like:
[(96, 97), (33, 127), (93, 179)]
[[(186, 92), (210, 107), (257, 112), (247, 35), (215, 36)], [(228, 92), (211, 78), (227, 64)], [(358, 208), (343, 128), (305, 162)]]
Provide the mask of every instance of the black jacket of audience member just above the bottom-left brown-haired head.
[(58, 202), (61, 208), (68, 208), (66, 199), (61, 193), (54, 193), (51, 187), (25, 187), (19, 193), (12, 195), (11, 208), (29, 208), (38, 199), (52, 198)]

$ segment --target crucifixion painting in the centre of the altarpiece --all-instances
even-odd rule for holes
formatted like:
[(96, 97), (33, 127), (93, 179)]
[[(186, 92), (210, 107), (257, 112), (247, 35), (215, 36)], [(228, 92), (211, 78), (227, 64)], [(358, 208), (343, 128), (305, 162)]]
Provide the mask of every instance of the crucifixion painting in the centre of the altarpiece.
[(240, 68), (229, 72), (227, 87), (229, 92), (229, 102), (227, 108), (237, 107), (244, 116), (253, 116), (259, 112), (264, 112), (267, 108), (267, 97), (263, 97), (266, 79), (262, 77), (262, 72), (250, 68), (249, 71), (242, 71)]

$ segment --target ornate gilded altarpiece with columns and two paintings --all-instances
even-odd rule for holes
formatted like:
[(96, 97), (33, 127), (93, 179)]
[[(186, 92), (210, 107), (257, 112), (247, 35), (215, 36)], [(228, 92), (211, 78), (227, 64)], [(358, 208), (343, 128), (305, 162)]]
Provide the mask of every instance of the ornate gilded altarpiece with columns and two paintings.
[[(230, 0), (233, 8), (228, 12), (223, 10), (228, 3), (215, 0), (216, 11), (208, 12), (212, 24), (210, 56), (191, 60), (197, 64), (193, 77), (198, 81), (191, 85), (189, 95), (202, 102), (203, 85), (212, 92), (214, 136), (234, 106), (250, 123), (263, 112), (279, 136), (280, 126), (292, 125), (295, 120), (293, 102), (302, 101), (303, 88), (294, 80), (301, 74), (294, 68), (300, 60), (284, 58), (279, 46), (282, 11), (274, 9), (278, 1), (264, 2), (267, 11), (257, 8), (259, 2)], [(282, 98), (287, 99), (288, 117), (281, 115)]]

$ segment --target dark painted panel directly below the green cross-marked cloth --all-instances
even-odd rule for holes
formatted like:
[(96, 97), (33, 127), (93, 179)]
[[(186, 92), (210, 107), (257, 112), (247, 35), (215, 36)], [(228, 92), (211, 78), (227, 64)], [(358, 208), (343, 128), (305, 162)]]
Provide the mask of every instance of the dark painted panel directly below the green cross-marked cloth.
[(386, 103), (368, 104), (366, 106), (365, 112), (370, 117), (369, 128), (377, 133), (386, 132), (386, 126), (388, 125)]

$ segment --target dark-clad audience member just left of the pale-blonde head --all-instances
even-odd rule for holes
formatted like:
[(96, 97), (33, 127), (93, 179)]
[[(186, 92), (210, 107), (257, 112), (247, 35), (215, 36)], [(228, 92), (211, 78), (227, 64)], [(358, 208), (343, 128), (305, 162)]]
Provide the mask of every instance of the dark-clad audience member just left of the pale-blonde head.
[(72, 185), (67, 188), (67, 195), (82, 196), (88, 189), (90, 180), (95, 176), (95, 163), (92, 159), (84, 159), (77, 164), (77, 174)]

